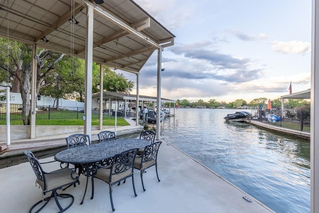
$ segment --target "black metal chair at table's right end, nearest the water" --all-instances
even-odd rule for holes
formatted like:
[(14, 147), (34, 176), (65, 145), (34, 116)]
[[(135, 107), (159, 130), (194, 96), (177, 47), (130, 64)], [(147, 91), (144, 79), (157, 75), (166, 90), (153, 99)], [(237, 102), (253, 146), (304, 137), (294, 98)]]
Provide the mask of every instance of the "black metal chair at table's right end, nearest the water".
[(152, 166), (155, 166), (156, 175), (158, 177), (158, 181), (160, 182), (159, 174), (158, 174), (158, 162), (157, 162), (160, 144), (161, 144), (161, 141), (158, 141), (146, 146), (142, 156), (135, 158), (134, 168), (140, 170), (141, 181), (142, 181), (142, 186), (144, 191), (146, 191), (146, 189), (144, 187), (144, 182), (143, 182), (143, 173), (146, 173), (145, 171), (146, 169)]

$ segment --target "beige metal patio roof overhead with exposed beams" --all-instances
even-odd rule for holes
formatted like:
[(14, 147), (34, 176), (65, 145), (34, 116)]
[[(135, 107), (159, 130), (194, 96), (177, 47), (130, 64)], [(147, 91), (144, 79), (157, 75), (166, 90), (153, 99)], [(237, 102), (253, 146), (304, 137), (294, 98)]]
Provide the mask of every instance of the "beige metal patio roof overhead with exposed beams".
[(0, 0), (0, 36), (85, 58), (87, 4), (94, 6), (94, 62), (138, 73), (154, 50), (174, 44), (133, 0)]

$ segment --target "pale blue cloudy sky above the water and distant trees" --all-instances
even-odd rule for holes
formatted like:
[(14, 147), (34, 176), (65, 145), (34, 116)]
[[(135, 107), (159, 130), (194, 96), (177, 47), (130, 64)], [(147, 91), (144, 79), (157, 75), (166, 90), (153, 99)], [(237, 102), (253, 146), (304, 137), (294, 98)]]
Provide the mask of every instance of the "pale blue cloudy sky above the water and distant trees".
[[(176, 36), (162, 52), (162, 98), (249, 103), (287, 95), (290, 83), (293, 93), (311, 88), (312, 0), (135, 2)], [(140, 95), (157, 96), (157, 51)]]

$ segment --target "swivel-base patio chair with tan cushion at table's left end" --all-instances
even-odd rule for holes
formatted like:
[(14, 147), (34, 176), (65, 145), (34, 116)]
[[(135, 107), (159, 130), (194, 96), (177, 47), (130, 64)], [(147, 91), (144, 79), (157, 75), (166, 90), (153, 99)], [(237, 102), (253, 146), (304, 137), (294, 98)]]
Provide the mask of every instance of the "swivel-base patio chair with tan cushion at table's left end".
[[(78, 174), (76, 174), (75, 170), (70, 168), (63, 168), (53, 172), (45, 172), (43, 171), (41, 164), (52, 163), (55, 161), (40, 163), (31, 151), (24, 151), (23, 154), (27, 156), (31, 164), (31, 167), (37, 178), (36, 183), (39, 184), (39, 187), (41, 187), (43, 195), (51, 192), (51, 196), (44, 198), (43, 200), (40, 200), (39, 202), (34, 204), (30, 209), (30, 213), (37, 205), (43, 203), (42, 207), (40, 207), (36, 211), (36, 213), (40, 212), (49, 203), (51, 198), (54, 198), (56, 205), (60, 209), (59, 213), (62, 213), (69, 209), (74, 202), (74, 197), (70, 194), (58, 194), (56, 191), (62, 189), (62, 187), (64, 186), (73, 185), (76, 183), (80, 184), (79, 176)], [(63, 208), (60, 205), (58, 197), (71, 198), (72, 202), (67, 207)]]

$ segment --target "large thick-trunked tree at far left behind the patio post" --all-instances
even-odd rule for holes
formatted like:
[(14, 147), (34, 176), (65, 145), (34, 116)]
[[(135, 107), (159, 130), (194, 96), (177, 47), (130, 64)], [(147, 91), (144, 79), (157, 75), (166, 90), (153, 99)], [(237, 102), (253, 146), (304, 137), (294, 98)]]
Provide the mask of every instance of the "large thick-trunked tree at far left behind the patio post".
[[(0, 45), (7, 46), (7, 39), (1, 38)], [(5, 45), (4, 45), (5, 44)], [(7, 48), (5, 48), (7, 49)], [(19, 92), (22, 98), (22, 121), (24, 125), (30, 125), (30, 116), (26, 118), (28, 106), (30, 106), (30, 82), (32, 73), (32, 48), (28, 44), (17, 41), (9, 41), (8, 54), (2, 54), (0, 57), (0, 68), (8, 70), (11, 91)], [(46, 77), (54, 71), (55, 65), (61, 60), (63, 54), (55, 53), (46, 49), (37, 49), (36, 57), (36, 95), (39, 94), (40, 88), (48, 86), (51, 82), (45, 81)], [(8, 59), (9, 60), (8, 60)], [(31, 113), (29, 107), (28, 114)]]

